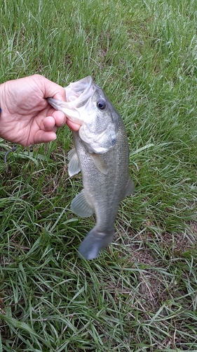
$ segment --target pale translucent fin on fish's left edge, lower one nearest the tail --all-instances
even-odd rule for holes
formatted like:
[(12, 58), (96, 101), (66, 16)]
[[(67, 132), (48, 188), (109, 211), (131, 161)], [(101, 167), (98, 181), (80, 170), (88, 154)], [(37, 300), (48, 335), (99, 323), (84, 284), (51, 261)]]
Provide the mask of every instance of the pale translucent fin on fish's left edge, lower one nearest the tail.
[(88, 203), (84, 189), (82, 189), (82, 191), (72, 200), (71, 210), (76, 215), (81, 216), (81, 218), (86, 218), (93, 215), (95, 210), (92, 206), (90, 206), (90, 203)]

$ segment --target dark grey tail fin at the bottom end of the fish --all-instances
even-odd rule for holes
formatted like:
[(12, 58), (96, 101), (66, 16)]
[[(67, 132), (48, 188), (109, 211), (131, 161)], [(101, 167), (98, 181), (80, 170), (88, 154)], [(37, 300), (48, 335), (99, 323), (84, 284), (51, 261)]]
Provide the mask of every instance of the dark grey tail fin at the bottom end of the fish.
[(107, 232), (99, 232), (95, 227), (87, 234), (79, 246), (79, 257), (95, 259), (100, 251), (107, 247), (114, 238), (114, 229)]

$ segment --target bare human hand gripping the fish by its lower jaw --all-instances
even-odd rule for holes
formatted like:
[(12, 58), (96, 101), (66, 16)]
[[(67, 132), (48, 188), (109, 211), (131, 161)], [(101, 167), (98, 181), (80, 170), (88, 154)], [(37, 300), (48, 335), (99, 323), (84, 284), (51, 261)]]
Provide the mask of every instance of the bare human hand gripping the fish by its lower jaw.
[(46, 98), (65, 101), (65, 90), (41, 75), (11, 80), (0, 85), (0, 136), (7, 141), (29, 146), (56, 139), (57, 127), (66, 122), (72, 130), (80, 125), (55, 111)]

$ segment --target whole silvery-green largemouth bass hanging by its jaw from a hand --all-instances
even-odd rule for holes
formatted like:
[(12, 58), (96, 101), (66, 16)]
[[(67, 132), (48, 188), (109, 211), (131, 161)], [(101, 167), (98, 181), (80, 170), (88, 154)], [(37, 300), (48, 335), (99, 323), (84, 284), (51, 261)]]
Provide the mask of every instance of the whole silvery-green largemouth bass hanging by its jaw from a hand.
[(71, 202), (81, 218), (95, 213), (96, 223), (81, 242), (79, 257), (92, 260), (114, 239), (121, 201), (135, 189), (129, 175), (129, 146), (123, 120), (91, 76), (65, 87), (67, 101), (48, 98), (56, 110), (81, 125), (72, 131), (69, 176), (81, 171), (83, 189)]

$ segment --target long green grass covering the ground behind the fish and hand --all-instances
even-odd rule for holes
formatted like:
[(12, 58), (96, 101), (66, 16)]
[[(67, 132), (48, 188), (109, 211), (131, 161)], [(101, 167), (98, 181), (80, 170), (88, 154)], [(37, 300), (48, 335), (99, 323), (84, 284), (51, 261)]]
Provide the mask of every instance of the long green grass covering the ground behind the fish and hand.
[[(0, 352), (197, 351), (194, 0), (1, 0), (0, 80), (92, 75), (121, 114), (136, 189), (99, 258), (69, 205), (72, 134), (0, 141)], [(113, 180), (111, 180), (113, 182)]]

